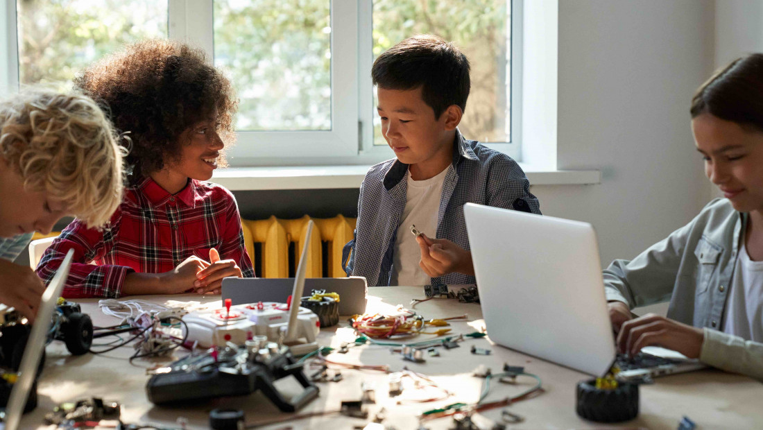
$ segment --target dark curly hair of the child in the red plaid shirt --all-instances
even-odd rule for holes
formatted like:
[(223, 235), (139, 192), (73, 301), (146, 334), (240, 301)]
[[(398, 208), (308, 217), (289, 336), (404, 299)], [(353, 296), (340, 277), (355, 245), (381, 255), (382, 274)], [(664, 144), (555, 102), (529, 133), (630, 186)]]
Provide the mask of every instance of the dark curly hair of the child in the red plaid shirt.
[[(134, 178), (179, 161), (182, 133), (217, 111), (217, 132), (233, 143), (237, 98), (230, 81), (201, 50), (170, 40), (144, 40), (89, 66), (76, 88), (105, 104), (114, 127), (129, 132), (125, 161)], [(217, 165), (227, 166), (224, 152)]]

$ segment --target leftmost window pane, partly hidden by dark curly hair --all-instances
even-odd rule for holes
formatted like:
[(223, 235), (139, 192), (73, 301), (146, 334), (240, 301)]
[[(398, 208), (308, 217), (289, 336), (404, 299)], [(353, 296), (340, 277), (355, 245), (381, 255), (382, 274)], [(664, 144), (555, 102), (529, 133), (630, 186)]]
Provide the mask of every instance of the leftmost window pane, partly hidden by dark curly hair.
[(24, 84), (70, 88), (79, 70), (126, 43), (167, 37), (167, 2), (18, 0), (18, 74)]

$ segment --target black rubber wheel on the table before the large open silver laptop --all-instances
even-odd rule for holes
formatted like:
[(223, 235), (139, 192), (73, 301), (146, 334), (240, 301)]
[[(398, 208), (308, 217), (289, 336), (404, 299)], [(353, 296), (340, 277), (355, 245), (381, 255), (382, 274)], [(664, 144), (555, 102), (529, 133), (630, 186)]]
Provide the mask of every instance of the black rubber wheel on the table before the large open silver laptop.
[(578, 383), (577, 412), (581, 418), (595, 422), (623, 422), (639, 415), (639, 386), (618, 384), (614, 390), (599, 390), (596, 380)]

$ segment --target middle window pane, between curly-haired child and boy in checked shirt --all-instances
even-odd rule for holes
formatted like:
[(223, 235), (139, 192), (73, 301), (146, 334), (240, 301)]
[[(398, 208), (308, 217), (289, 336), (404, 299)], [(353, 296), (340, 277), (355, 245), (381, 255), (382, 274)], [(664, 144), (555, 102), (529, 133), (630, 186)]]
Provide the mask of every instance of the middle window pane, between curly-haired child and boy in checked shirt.
[(331, 130), (331, 2), (214, 2), (214, 64), (230, 72), (237, 130)]

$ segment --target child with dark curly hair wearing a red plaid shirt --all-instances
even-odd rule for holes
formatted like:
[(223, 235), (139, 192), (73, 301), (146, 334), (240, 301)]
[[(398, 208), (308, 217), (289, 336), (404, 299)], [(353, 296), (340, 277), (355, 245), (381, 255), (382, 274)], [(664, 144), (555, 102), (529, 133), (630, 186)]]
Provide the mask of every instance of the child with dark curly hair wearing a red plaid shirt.
[(69, 224), (41, 258), (40, 278), (49, 282), (69, 249), (65, 297), (219, 294), (223, 278), (253, 277), (236, 200), (206, 182), (226, 165), (237, 101), (204, 53), (146, 40), (85, 69), (75, 85), (130, 133), (131, 173), (108, 228)]

